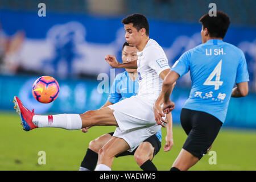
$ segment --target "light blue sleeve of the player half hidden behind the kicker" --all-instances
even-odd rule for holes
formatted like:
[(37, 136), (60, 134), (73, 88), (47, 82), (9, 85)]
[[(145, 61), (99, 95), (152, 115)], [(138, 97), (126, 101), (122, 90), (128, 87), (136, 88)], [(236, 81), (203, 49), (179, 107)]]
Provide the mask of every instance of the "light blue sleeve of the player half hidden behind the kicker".
[(117, 103), (122, 98), (121, 92), (119, 92), (119, 89), (118, 89), (118, 82), (120, 81), (120, 79), (121, 79), (121, 76), (117, 75), (110, 88), (108, 101), (111, 102), (112, 104)]

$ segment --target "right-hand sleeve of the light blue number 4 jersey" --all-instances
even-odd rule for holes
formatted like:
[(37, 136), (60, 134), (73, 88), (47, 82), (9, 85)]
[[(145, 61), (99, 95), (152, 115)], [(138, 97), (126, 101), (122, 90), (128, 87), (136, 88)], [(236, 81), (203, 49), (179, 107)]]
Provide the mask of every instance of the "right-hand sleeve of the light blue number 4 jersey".
[(247, 69), (245, 55), (242, 53), (240, 63), (237, 67), (236, 84), (246, 81), (249, 81), (249, 73)]

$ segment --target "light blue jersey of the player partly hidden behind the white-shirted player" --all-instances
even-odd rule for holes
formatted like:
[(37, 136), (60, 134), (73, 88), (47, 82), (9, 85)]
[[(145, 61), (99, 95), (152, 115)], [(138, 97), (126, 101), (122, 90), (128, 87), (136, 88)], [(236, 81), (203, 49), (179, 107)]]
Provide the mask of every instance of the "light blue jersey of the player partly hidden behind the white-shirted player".
[[(129, 73), (124, 71), (119, 73), (113, 82), (113, 85), (110, 89), (110, 94), (108, 97), (108, 101), (112, 104), (115, 104), (125, 98), (129, 98), (131, 96), (135, 96), (138, 93), (138, 77), (135, 81), (132, 81), (129, 77)], [(143, 114), (143, 113), (142, 113)], [(156, 133), (156, 137), (162, 142), (162, 132), (161, 130)]]

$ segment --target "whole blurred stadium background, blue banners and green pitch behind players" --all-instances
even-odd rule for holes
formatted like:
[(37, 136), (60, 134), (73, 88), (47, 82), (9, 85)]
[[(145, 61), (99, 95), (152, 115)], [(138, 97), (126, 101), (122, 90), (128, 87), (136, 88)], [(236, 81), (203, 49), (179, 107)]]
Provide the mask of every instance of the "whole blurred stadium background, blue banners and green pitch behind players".
[[(38, 4), (42, 2), (46, 4), (46, 17), (38, 16)], [(222, 164), (210, 166), (207, 158), (192, 169), (256, 170), (255, 0), (1, 0), (0, 133), (3, 144), (0, 147), (0, 169), (76, 170), (89, 141), (114, 130), (114, 127), (100, 127), (91, 129), (90, 134), (52, 131), (55, 129), (24, 133), (18, 128), (18, 115), (14, 114), (11, 102), (14, 96), (20, 97), (24, 105), (34, 108), (39, 114), (83, 113), (98, 109), (108, 97), (107, 93), (97, 91), (102, 81), (98, 76), (101, 73), (108, 74), (109, 78), (113, 76), (104, 57), (112, 54), (121, 61), (121, 48), (125, 42), (122, 18), (133, 13), (146, 15), (150, 23), (150, 38), (164, 48), (172, 65), (183, 52), (201, 43), (198, 20), (208, 13), (208, 5), (212, 2), (216, 3), (217, 10), (230, 16), (232, 24), (224, 41), (245, 53), (250, 93), (245, 98), (230, 100), (224, 129), (213, 147), (213, 150), (221, 151), (217, 154), (220, 156), (218, 162)], [(115, 75), (122, 71), (115, 69)], [(60, 84), (59, 97), (51, 104), (40, 104), (32, 97), (32, 84), (43, 75), (55, 77)], [(177, 142), (172, 155), (162, 151), (154, 159), (159, 169), (170, 169), (184, 142), (185, 133), (179, 125), (179, 115), (190, 86), (187, 74), (177, 82), (172, 95), (176, 102), (173, 117), (176, 124), (174, 140)], [(38, 142), (32, 142), (31, 137)], [(82, 141), (81, 137), (84, 137)], [(33, 144), (24, 145), (24, 140), (31, 140)], [(51, 158), (45, 167), (36, 165), (39, 150), (46, 150)], [(34, 155), (33, 159), (30, 155)], [(167, 158), (170, 159), (168, 163)], [(135, 162), (130, 164), (127, 159), (130, 157), (115, 160), (113, 169), (139, 169)], [(127, 163), (127, 167), (123, 163)]]

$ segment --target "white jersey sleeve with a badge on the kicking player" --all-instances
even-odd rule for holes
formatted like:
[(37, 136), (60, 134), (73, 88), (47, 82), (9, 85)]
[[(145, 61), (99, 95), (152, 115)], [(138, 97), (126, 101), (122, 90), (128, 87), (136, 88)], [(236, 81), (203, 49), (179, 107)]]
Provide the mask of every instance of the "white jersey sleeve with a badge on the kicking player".
[(167, 57), (161, 49), (150, 49), (147, 51), (147, 56), (150, 57), (148, 66), (155, 69), (156, 73), (160, 73), (166, 69), (170, 69)]

